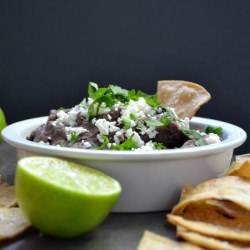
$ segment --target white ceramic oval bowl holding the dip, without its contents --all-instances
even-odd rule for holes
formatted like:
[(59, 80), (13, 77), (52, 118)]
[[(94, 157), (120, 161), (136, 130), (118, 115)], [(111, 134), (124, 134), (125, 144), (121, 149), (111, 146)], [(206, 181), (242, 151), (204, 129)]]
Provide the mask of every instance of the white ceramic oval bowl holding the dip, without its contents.
[(223, 141), (195, 148), (161, 151), (109, 151), (61, 148), (31, 142), (26, 136), (46, 122), (34, 118), (9, 125), (5, 141), (17, 149), (18, 159), (29, 155), (63, 157), (99, 169), (117, 179), (123, 188), (113, 212), (152, 212), (171, 209), (183, 184), (195, 185), (223, 175), (233, 151), (246, 140), (241, 128), (211, 119), (194, 117), (192, 128), (222, 127)]

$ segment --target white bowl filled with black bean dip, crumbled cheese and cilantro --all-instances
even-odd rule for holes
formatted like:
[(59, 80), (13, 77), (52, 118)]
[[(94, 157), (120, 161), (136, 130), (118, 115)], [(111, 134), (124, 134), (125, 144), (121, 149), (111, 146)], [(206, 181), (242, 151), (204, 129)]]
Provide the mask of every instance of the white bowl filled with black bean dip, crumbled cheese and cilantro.
[(94, 83), (88, 92), (75, 107), (11, 124), (2, 135), (18, 159), (60, 157), (117, 179), (123, 192), (114, 212), (171, 209), (184, 184), (223, 175), (234, 149), (246, 140), (245, 131), (229, 123), (181, 119), (156, 95)]

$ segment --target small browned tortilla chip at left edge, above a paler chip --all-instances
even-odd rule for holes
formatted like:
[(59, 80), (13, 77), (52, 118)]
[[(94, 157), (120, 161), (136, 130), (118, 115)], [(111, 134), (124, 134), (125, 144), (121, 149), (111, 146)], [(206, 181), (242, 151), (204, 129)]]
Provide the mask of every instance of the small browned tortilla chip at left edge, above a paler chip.
[(17, 199), (13, 186), (0, 185), (0, 207), (16, 207)]

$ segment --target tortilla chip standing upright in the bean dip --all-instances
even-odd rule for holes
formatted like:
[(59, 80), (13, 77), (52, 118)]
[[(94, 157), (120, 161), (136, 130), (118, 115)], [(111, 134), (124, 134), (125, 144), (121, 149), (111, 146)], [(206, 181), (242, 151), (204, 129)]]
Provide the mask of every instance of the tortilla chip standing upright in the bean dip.
[(158, 100), (165, 107), (171, 107), (182, 119), (191, 119), (211, 95), (201, 85), (179, 80), (162, 80), (157, 83)]

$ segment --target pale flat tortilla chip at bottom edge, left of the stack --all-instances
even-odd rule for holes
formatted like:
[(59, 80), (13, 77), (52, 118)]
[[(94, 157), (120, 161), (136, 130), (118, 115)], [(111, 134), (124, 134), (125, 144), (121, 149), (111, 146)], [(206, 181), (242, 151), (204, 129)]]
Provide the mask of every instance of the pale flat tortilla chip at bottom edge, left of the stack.
[(150, 231), (145, 231), (137, 250), (200, 250), (202, 248), (186, 242), (177, 242)]

